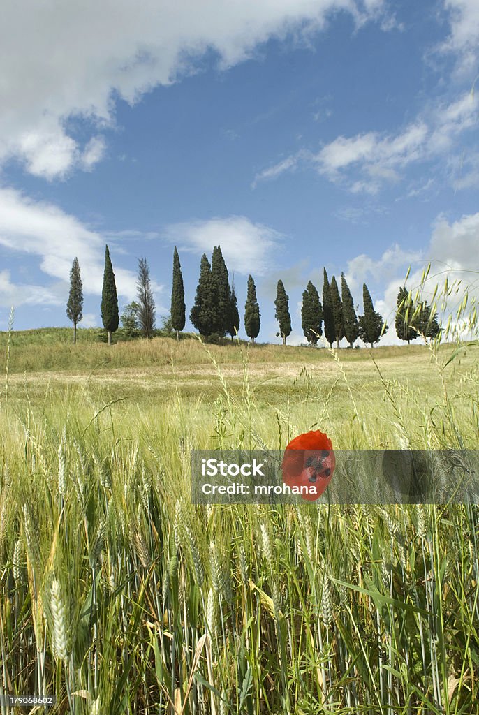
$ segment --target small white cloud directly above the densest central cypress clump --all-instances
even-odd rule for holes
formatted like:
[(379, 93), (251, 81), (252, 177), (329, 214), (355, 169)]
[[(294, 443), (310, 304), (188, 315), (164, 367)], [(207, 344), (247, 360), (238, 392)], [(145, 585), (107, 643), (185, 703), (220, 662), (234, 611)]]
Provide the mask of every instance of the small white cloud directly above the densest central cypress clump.
[(229, 270), (243, 275), (267, 272), (281, 239), (274, 229), (245, 216), (173, 224), (165, 233), (171, 242), (197, 253), (211, 253), (214, 246), (221, 245)]

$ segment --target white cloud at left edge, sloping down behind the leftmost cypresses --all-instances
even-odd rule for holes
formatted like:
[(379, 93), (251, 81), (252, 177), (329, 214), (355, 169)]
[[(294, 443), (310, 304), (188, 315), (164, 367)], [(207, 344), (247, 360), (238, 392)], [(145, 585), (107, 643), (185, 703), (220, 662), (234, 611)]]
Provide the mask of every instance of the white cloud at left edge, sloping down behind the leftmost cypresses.
[[(104, 237), (53, 204), (35, 202), (14, 189), (0, 189), (0, 245), (11, 252), (39, 257), (41, 270), (61, 281), (69, 280), (76, 256), (84, 292), (102, 292)], [(136, 273), (115, 266), (114, 273), (119, 295), (132, 300), (137, 292)], [(153, 289), (159, 293), (162, 286), (154, 283)], [(5, 290), (11, 288), (6, 285)], [(43, 295), (41, 302), (51, 302), (48, 290)]]

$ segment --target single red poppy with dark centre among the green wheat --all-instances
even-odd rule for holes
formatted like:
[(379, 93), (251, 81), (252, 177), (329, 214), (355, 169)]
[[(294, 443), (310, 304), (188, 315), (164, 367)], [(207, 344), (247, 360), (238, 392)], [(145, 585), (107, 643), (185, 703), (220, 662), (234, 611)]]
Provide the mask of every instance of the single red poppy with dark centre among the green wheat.
[(332, 443), (324, 432), (316, 430), (298, 435), (285, 450), (281, 465), (283, 483), (299, 487), (297, 493), (303, 499), (316, 501), (330, 483), (335, 465)]

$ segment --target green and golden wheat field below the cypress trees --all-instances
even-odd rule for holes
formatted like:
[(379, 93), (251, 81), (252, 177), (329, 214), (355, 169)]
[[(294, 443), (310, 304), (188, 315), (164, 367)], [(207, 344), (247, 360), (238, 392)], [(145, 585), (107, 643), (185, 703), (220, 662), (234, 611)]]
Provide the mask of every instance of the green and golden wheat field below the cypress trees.
[(310, 429), (476, 449), (477, 340), (97, 337), (0, 335), (4, 693), (52, 714), (479, 713), (476, 505), (192, 506), (189, 473), (192, 448)]

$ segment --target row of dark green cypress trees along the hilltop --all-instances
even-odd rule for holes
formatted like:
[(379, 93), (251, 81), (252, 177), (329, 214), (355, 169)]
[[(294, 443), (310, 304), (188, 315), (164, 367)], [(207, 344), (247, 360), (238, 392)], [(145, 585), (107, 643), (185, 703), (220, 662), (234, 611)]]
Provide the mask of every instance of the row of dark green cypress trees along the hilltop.
[[(149, 277), (149, 266), (145, 258), (139, 259), (138, 298), (135, 306), (139, 325), (145, 337), (154, 334), (154, 299)], [(371, 347), (387, 331), (387, 325), (382, 315), (375, 311), (367, 285), (362, 287), (363, 315), (357, 317), (354, 301), (347, 285), (344, 273), (341, 273), (341, 295), (336, 277), (331, 281), (326, 269), (323, 272), (322, 301), (317, 288), (311, 281), (302, 294), (301, 324), (303, 333), (311, 345), (316, 345), (323, 333), (330, 347), (336, 342), (339, 347), (343, 337), (352, 347), (357, 337)], [(74, 324), (74, 342), (76, 342), (76, 325), (82, 320), (83, 292), (82, 278), (78, 259), (75, 258), (70, 272), (70, 292), (66, 305), (66, 315)], [(102, 322), (107, 330), (108, 343), (111, 344), (112, 332), (119, 325), (118, 296), (115, 284), (112, 261), (108, 246), (105, 248), (105, 263), (102, 288)], [(247, 300), (245, 304), (245, 332), (252, 342), (255, 342), (260, 332), (260, 306), (257, 301), (255, 281), (248, 277)], [(279, 324), (277, 335), (286, 344), (288, 335), (292, 332), (289, 310), (289, 296), (282, 280), (277, 282), (275, 299), (275, 317)], [(240, 314), (237, 307), (237, 296), (234, 291), (234, 278), (229, 282), (229, 274), (221, 247), (215, 246), (211, 263), (206, 254), (202, 255), (194, 305), (189, 313), (192, 325), (204, 337), (216, 334), (237, 335), (240, 328)], [(173, 280), (170, 322), (179, 333), (186, 323), (186, 307), (184, 303), (184, 284), (177, 247), (173, 252)], [(400, 288), (397, 295), (397, 312), (395, 317), (397, 336), (402, 340), (414, 340), (419, 335), (435, 337), (440, 327), (427, 302), (414, 305), (410, 293), (405, 287)]]

